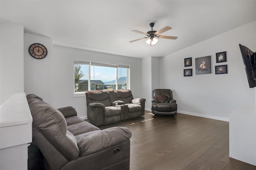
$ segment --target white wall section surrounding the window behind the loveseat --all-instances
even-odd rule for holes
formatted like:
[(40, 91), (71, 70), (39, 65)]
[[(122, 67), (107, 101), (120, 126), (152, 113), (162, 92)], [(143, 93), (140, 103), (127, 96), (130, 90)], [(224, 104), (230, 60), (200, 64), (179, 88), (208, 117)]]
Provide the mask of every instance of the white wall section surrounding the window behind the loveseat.
[(82, 97), (74, 97), (74, 59), (129, 64), (132, 95), (134, 98), (143, 97), (141, 59), (58, 45), (54, 45), (53, 50), (54, 107), (73, 106), (79, 117), (87, 118), (84, 95)]

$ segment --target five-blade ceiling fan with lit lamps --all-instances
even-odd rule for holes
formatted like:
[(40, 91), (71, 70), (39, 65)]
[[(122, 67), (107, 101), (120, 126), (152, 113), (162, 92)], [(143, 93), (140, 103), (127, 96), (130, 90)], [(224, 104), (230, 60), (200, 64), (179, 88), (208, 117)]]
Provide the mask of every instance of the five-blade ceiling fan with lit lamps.
[(161, 30), (159, 31), (153, 31), (153, 27), (154, 27), (155, 23), (152, 22), (149, 24), (149, 26), (151, 27), (151, 31), (148, 31), (147, 33), (144, 33), (144, 32), (140, 32), (140, 31), (137, 31), (137, 30), (132, 30), (132, 32), (136, 32), (136, 33), (139, 33), (139, 34), (144, 34), (146, 35), (147, 37), (143, 37), (143, 38), (139, 38), (137, 40), (132, 40), (130, 42), (136, 42), (138, 40), (142, 40), (144, 38), (149, 38), (146, 43), (147, 44), (150, 44), (150, 45), (155, 45), (157, 42), (158, 42), (158, 39), (156, 39), (155, 37), (157, 38), (166, 38), (166, 39), (172, 39), (172, 40), (176, 40), (178, 37), (172, 37), (172, 36), (160, 36), (159, 34), (162, 34), (163, 32), (166, 32), (170, 29), (172, 29), (171, 27), (169, 26), (166, 26), (164, 28), (162, 28)]

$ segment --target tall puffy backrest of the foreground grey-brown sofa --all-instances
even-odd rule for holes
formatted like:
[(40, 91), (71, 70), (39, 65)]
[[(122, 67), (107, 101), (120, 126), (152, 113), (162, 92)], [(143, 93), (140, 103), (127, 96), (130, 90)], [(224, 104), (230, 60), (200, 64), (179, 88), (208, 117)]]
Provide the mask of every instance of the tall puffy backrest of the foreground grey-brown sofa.
[[(67, 130), (67, 123), (62, 113), (34, 94), (27, 95), (27, 100), (33, 119), (32, 136), (44, 156), (60, 152), (60, 155), (63, 155), (68, 160), (78, 158), (77, 140)], [(47, 145), (40, 140), (42, 137), (46, 138), (46, 141), (56, 150), (46, 147)], [(58, 161), (60, 158), (51, 159)]]

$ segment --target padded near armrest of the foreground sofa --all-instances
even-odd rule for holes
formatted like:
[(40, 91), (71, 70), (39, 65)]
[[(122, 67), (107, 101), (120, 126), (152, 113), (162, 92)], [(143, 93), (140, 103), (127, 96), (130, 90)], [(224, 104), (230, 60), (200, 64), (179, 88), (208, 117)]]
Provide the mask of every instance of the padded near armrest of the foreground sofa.
[(80, 156), (86, 156), (126, 142), (132, 132), (124, 127), (112, 127), (76, 136)]

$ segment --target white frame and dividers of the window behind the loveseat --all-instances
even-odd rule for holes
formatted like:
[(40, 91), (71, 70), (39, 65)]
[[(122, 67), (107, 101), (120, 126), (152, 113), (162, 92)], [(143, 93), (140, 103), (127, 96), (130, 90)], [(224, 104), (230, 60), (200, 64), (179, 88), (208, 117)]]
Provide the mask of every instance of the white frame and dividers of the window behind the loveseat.
[[(88, 77), (88, 90), (91, 90), (91, 83), (90, 83), (90, 81), (91, 81), (91, 77), (90, 77), (90, 75), (91, 75), (91, 69), (90, 69), (90, 66), (92, 66), (92, 65), (94, 65), (94, 66), (102, 66), (102, 67), (114, 67), (114, 68), (116, 68), (116, 87), (118, 87), (118, 82), (117, 82), (117, 80), (118, 80), (118, 68), (126, 68), (127, 69), (127, 73), (126, 73), (126, 81), (127, 81), (127, 88), (128, 89), (130, 89), (130, 65), (127, 65), (127, 64), (120, 64), (120, 63), (108, 63), (108, 62), (100, 62), (100, 61), (87, 61), (87, 60), (82, 60), (82, 59), (74, 59), (74, 63), (73, 63), (73, 65), (75, 64), (75, 63), (85, 63), (85, 64), (87, 64), (87, 65), (89, 65), (88, 66), (88, 75), (89, 75), (89, 77)], [(74, 71), (73, 71), (73, 74), (74, 74)], [(74, 78), (73, 78), (73, 80), (74, 80)], [(74, 84), (74, 83), (73, 83)], [(97, 88), (98, 88), (98, 85), (96, 86)], [(97, 89), (96, 88), (96, 89)], [(100, 88), (103, 88), (103, 85), (101, 85), (101, 87)], [(74, 87), (73, 87), (73, 89), (74, 89)], [(94, 90), (96, 90), (95, 89), (95, 87), (94, 87)], [(84, 97), (85, 95), (85, 91), (83, 91), (83, 92), (75, 92), (74, 91), (74, 97)]]

